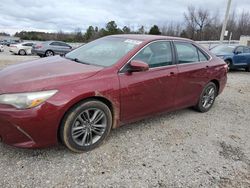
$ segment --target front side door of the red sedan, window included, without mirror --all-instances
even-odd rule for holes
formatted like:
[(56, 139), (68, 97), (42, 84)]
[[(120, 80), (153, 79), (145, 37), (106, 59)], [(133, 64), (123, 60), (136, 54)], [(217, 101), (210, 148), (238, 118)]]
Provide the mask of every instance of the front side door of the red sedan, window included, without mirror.
[(119, 73), (121, 121), (129, 122), (167, 111), (174, 106), (177, 66), (173, 60), (170, 41), (157, 41), (143, 48), (132, 60), (149, 65), (145, 72), (127, 73), (127, 66)]

